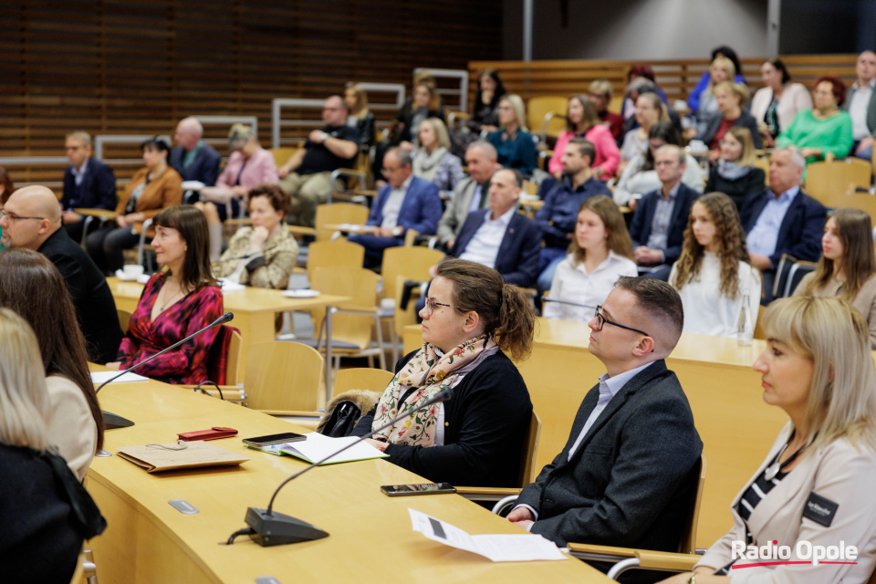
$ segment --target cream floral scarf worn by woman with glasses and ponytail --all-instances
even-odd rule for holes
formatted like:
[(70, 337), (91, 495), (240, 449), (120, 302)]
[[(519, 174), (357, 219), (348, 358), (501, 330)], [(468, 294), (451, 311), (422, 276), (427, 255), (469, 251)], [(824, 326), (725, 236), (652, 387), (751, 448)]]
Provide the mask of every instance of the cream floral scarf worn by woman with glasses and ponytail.
[[(486, 334), (466, 340), (443, 357), (438, 356), (432, 345), (423, 343), (422, 349), (414, 354), (392, 378), (386, 391), (383, 391), (381, 401), (377, 404), (377, 412), (374, 414), (374, 422), (371, 423), (371, 430), (376, 430), (390, 422), (399, 415), (399, 412), (415, 409), (425, 403), (438, 391), (453, 385), (454, 380), (460, 375), (474, 370), (481, 361), (497, 350), (495, 339)], [(402, 401), (402, 397), (406, 394), (406, 398)], [(401, 422), (396, 422), (374, 434), (374, 439), (405, 446), (433, 446), (440, 406), (440, 403), (435, 403), (427, 410), (408, 416)]]

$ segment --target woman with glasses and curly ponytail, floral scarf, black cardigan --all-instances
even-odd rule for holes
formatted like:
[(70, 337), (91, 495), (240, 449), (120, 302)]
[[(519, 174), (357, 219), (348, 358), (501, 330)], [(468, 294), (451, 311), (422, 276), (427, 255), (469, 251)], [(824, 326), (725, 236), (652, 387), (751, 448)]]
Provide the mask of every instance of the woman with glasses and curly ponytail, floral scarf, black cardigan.
[(532, 415), (514, 360), (532, 349), (536, 316), (527, 295), (486, 266), (438, 264), (422, 317), (421, 349), (404, 356), (356, 435), (415, 409), (445, 387), (454, 397), (375, 434), (393, 464), (432, 481), (515, 486)]

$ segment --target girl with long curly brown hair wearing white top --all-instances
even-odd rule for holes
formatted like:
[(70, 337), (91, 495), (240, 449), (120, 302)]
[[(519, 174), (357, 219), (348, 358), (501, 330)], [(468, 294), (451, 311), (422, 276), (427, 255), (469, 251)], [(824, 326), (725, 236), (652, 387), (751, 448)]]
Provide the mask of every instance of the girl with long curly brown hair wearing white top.
[(694, 201), (669, 283), (682, 297), (684, 332), (735, 339), (743, 303), (757, 314), (760, 273), (748, 257), (735, 204), (724, 193)]

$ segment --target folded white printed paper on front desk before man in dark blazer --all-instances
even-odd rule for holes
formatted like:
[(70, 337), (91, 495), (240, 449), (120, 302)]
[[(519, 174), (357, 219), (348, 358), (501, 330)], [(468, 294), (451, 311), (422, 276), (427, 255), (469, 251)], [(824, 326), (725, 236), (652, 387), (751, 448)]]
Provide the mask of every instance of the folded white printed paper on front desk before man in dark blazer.
[(449, 523), (408, 508), (411, 526), (423, 536), (445, 546), (470, 551), (494, 562), (524, 562), (536, 559), (568, 559), (553, 542), (535, 534), (472, 536)]

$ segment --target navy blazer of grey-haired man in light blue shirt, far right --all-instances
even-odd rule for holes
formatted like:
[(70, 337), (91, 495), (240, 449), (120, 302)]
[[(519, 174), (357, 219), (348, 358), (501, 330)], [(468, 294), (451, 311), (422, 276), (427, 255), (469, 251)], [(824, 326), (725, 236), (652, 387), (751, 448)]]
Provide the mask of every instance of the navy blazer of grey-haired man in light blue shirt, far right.
[[(772, 191), (752, 194), (742, 205), (739, 218), (746, 235), (754, 229), (757, 218), (767, 206), (767, 197), (775, 196)], [(778, 266), (782, 254), (793, 255), (807, 262), (817, 262), (821, 257), (821, 235), (828, 211), (824, 205), (800, 190), (787, 208), (785, 218), (778, 228), (776, 252), (769, 256), (773, 268)]]

